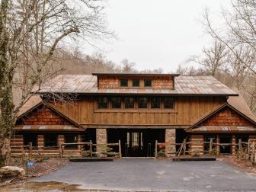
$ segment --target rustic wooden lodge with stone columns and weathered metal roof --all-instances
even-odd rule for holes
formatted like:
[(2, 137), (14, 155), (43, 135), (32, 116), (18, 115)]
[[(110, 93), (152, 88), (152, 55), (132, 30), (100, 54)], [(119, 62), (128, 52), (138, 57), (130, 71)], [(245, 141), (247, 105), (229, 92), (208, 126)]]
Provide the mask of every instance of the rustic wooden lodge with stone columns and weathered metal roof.
[[(55, 97), (53, 97), (55, 95)], [(72, 98), (62, 101), (64, 95)], [(21, 108), (11, 146), (46, 148), (56, 154), (61, 142), (121, 143), (123, 157), (154, 156), (155, 140), (171, 157), (178, 146), (204, 153), (216, 143), (256, 139), (256, 118), (238, 90), (213, 76), (178, 74), (93, 73), (58, 75), (40, 87)], [(53, 148), (51, 148), (53, 147)], [(66, 146), (78, 155), (79, 146)], [(114, 149), (115, 150), (115, 149)], [(235, 154), (235, 146), (218, 146)], [(13, 149), (12, 155), (21, 151)]]

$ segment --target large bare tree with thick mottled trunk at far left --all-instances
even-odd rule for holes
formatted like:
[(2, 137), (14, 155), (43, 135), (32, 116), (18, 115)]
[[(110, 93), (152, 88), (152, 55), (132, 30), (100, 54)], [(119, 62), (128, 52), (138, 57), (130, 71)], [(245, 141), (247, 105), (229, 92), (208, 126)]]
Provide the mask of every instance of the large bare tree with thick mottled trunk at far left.
[[(32, 88), (55, 75), (54, 53), (65, 41), (113, 37), (97, 0), (3, 0), (0, 5), (0, 149)], [(21, 90), (14, 105), (13, 91)], [(34, 90), (36, 92), (37, 90)]]

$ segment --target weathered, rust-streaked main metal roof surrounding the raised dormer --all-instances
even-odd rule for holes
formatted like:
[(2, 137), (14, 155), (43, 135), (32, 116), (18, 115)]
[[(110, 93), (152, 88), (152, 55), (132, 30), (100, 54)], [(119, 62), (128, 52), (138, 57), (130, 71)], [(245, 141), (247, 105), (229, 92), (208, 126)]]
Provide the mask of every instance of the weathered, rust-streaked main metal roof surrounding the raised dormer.
[(213, 76), (177, 76), (174, 90), (168, 88), (98, 88), (97, 79), (97, 75), (58, 75), (42, 85), (39, 93), (238, 95)]

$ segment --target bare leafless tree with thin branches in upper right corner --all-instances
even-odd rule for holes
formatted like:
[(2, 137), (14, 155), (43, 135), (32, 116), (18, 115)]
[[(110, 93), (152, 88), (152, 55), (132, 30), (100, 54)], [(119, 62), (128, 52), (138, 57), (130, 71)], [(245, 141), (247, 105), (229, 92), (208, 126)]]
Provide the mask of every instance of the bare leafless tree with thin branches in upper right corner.
[[(256, 101), (256, 2), (233, 0), (231, 11), (222, 9), (224, 26), (213, 25), (206, 9), (203, 24), (207, 32), (229, 50), (227, 74), (241, 91), (248, 95), (248, 102)], [(253, 108), (251, 108), (253, 110)]]

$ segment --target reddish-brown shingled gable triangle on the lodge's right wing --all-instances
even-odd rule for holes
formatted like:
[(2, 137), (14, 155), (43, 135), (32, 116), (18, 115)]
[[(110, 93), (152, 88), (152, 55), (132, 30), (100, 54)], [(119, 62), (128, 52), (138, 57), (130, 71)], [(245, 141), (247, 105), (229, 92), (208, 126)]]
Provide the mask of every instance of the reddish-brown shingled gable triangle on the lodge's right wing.
[(201, 123), (202, 126), (254, 126), (249, 120), (242, 117), (229, 107), (225, 107), (217, 114)]

